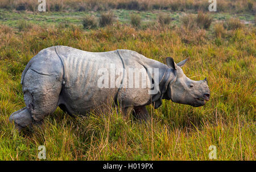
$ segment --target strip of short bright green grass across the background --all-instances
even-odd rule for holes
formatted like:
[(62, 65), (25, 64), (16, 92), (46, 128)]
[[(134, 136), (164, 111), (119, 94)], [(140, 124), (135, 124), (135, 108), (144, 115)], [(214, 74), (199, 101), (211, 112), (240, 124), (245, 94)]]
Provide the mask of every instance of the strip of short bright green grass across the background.
[[(157, 22), (159, 14), (170, 15), (173, 19), (173, 24), (180, 23), (180, 17), (184, 15), (184, 12), (170, 12), (168, 10), (151, 10), (151, 11), (134, 11), (134, 10), (112, 10), (114, 15), (118, 19), (119, 23), (130, 23), (131, 14), (139, 14), (143, 23)], [(32, 24), (39, 26), (49, 26), (59, 24), (76, 24), (82, 26), (82, 19), (86, 15), (94, 15), (98, 18), (101, 15), (101, 11), (69, 11), (69, 12), (27, 12), (27, 11), (9, 11), (0, 9), (0, 23), (10, 27), (18, 27), (20, 20), (27, 20)], [(210, 16), (213, 20), (227, 20), (229, 18), (239, 18), (245, 22), (254, 23), (255, 16), (252, 13), (220, 13), (214, 12)]]

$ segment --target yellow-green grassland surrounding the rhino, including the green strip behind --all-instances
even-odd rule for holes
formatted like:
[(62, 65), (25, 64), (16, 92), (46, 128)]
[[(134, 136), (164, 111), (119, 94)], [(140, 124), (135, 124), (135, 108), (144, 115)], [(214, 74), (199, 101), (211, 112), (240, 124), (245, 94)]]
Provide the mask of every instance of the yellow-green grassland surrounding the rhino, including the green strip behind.
[[(118, 22), (84, 30), (83, 16), (101, 11), (0, 9), (0, 160), (38, 160), (39, 145), (46, 146), (47, 160), (209, 160), (210, 145), (217, 147), (217, 160), (255, 160), (253, 13), (212, 13), (212, 24), (203, 29), (182, 23), (181, 11), (113, 12)], [(134, 12), (141, 15), (141, 27), (129, 24)], [(171, 23), (160, 25), (160, 13), (170, 15)], [(241, 23), (231, 27), (230, 18)], [(123, 119), (118, 107), (79, 118), (57, 108), (42, 125), (18, 133), (9, 116), (25, 106), (21, 73), (35, 54), (53, 45), (92, 52), (132, 49), (161, 62), (189, 57), (184, 73), (208, 78), (210, 101), (194, 108), (164, 100), (157, 110), (147, 107), (148, 124)]]

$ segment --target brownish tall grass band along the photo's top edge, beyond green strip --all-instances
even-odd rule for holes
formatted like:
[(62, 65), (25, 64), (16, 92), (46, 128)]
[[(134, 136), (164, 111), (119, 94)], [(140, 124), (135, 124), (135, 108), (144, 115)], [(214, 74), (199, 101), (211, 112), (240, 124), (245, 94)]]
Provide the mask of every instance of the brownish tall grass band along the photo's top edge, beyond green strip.
[[(110, 10), (110, 9), (127, 9), (127, 10), (203, 10), (208, 11), (210, 3), (205, 0), (56, 0), (46, 1), (47, 11), (61, 10)], [(219, 1), (217, 5), (218, 11), (226, 12), (253, 12), (255, 1), (245, 0), (226, 0)], [(1, 0), (0, 8), (30, 10), (36, 11), (38, 2), (35, 0)]]

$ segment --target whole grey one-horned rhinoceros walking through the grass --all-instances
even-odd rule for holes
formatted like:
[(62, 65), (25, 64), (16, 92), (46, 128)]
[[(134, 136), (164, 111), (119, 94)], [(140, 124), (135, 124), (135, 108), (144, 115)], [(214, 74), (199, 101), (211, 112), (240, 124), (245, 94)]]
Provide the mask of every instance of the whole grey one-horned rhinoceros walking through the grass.
[[(181, 69), (186, 61), (176, 64), (167, 57), (163, 64), (127, 49), (86, 52), (61, 45), (43, 49), (22, 73), (26, 107), (11, 114), (10, 121), (20, 130), (42, 121), (58, 106), (69, 115), (84, 115), (109, 102), (123, 111), (133, 109), (141, 120), (149, 118), (145, 106), (158, 108), (162, 99), (203, 106), (210, 97), (207, 78), (186, 77)], [(127, 74), (128, 69), (139, 73)], [(136, 83), (140, 85), (135, 87)]]

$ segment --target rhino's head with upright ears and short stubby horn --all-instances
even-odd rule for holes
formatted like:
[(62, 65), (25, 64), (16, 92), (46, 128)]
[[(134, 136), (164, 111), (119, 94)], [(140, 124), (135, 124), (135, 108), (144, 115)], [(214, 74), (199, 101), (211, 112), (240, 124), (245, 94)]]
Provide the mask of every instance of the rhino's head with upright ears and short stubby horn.
[(186, 60), (175, 64), (171, 57), (166, 58), (168, 68), (174, 69), (176, 80), (168, 86), (168, 97), (175, 103), (189, 104), (193, 107), (204, 106), (210, 98), (207, 78), (201, 81), (189, 79), (181, 69)]

